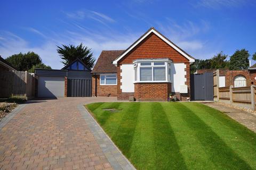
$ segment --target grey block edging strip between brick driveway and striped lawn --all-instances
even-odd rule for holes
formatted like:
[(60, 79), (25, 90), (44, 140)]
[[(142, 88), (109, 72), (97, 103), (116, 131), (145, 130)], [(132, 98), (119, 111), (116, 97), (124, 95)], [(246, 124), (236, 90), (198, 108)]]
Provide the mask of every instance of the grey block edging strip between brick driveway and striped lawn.
[(100, 148), (107, 157), (111, 167), (113, 167), (113, 169), (135, 169), (87, 109), (82, 104), (79, 104), (77, 108), (96, 141), (99, 143)]

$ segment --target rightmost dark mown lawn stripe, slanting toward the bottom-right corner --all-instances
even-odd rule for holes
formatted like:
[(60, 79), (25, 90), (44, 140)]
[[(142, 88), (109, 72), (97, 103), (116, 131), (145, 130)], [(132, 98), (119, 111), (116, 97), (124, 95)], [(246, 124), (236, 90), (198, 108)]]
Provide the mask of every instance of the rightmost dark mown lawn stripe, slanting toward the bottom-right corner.
[(189, 128), (196, 131), (195, 137), (205, 148), (207, 155), (210, 156), (212, 163), (217, 169), (252, 169), (193, 111), (181, 103), (177, 103), (177, 105), (180, 106), (178, 111), (182, 115), (183, 120)]

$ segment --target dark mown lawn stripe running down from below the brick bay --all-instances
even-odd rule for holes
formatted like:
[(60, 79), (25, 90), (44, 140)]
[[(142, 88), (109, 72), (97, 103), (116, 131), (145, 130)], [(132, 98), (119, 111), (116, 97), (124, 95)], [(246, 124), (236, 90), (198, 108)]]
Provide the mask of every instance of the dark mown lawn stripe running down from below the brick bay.
[[(159, 109), (161, 108), (161, 109)], [(155, 164), (159, 169), (187, 169), (168, 117), (160, 103), (151, 104), (155, 141)]]

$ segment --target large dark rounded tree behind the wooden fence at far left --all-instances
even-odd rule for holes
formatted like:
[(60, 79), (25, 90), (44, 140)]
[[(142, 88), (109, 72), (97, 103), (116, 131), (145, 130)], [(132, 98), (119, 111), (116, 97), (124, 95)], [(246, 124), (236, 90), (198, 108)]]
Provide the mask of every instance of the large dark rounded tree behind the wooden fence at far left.
[(18, 71), (27, 71), (33, 65), (42, 63), (42, 59), (34, 52), (14, 54), (7, 57), (6, 61), (12, 64)]

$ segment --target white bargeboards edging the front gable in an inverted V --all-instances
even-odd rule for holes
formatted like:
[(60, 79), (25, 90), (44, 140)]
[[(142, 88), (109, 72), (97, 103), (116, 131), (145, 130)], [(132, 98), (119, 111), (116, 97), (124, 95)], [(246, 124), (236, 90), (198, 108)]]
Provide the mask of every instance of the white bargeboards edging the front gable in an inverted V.
[(136, 47), (143, 39), (145, 39), (148, 35), (150, 35), (151, 32), (155, 33), (155, 35), (157, 35), (159, 38), (161, 38), (163, 41), (165, 41), (165, 43), (169, 44), (171, 47), (173, 47), (175, 50), (177, 50), (181, 55), (183, 55), (184, 57), (188, 58), (189, 62), (191, 62), (191, 63), (195, 62), (195, 58), (194, 57), (190, 56), (188, 53), (186, 53), (180, 47), (175, 45), (171, 40), (169, 40), (164, 35), (162, 35), (162, 33), (157, 31), (154, 27), (151, 27), (138, 40), (136, 40), (130, 47), (128, 47), (126, 50), (124, 50), (124, 52), (120, 56), (117, 56), (117, 58), (115, 58), (115, 60), (113, 61), (113, 64), (117, 64), (117, 62), (119, 60), (121, 60), (121, 58), (123, 58), (134, 47)]

